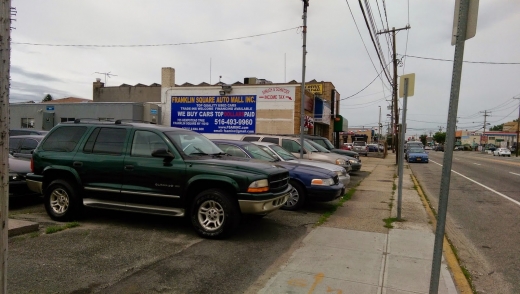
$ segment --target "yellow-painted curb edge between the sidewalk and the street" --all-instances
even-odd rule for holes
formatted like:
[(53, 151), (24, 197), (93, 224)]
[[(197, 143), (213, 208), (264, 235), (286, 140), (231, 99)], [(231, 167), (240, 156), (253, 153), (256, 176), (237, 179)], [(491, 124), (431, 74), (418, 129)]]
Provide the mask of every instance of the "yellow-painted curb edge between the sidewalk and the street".
[[(424, 192), (422, 191), (421, 187), (419, 186), (419, 182), (413, 175), (411, 174), (412, 180), (417, 187), (417, 192), (419, 193), (419, 196), (421, 197), (421, 200), (424, 204), (424, 207), (426, 208), (426, 211), (428, 213), (428, 216), (430, 217), (430, 220), (432, 221), (432, 225), (435, 231), (435, 227), (437, 226), (437, 218), (433, 214), (433, 210), (430, 207), (430, 204), (426, 200), (426, 196), (424, 195)], [(453, 274), (453, 280), (455, 282), (455, 285), (457, 289), (459, 289), (460, 293), (473, 293), (473, 290), (471, 289), (471, 286), (469, 285), (468, 280), (466, 279), (466, 276), (464, 273), (462, 273), (462, 270), (460, 269), (460, 264), (457, 260), (457, 257), (455, 256), (455, 253), (453, 253), (453, 250), (451, 249), (448, 239), (446, 238), (446, 235), (444, 235), (444, 241), (442, 242), (442, 249), (444, 252), (444, 257), (446, 259), (446, 263), (448, 264), (448, 267), (450, 268), (451, 273)]]

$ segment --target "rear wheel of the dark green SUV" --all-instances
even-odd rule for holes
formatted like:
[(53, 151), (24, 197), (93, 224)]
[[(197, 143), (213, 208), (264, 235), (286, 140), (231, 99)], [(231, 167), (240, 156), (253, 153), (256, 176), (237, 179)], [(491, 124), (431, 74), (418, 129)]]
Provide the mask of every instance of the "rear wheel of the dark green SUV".
[(45, 210), (53, 220), (71, 221), (79, 217), (83, 203), (74, 184), (65, 180), (52, 181), (43, 197)]

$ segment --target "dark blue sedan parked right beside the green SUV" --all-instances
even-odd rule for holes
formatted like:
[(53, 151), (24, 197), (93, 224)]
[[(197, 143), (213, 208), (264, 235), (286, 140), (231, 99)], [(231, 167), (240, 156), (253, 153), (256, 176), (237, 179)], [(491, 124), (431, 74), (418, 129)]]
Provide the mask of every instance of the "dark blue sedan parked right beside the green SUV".
[(332, 201), (345, 194), (345, 185), (338, 175), (320, 167), (295, 164), (275, 159), (258, 145), (247, 141), (211, 140), (223, 152), (234, 156), (236, 160), (263, 160), (289, 170), (293, 189), (291, 196), (282, 209), (298, 210), (307, 201)]

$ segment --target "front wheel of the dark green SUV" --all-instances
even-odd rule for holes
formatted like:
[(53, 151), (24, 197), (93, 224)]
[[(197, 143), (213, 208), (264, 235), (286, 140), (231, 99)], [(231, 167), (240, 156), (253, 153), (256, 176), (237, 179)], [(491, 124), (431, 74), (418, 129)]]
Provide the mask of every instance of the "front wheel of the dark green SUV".
[(219, 239), (229, 236), (240, 223), (238, 204), (225, 191), (209, 189), (193, 200), (191, 223), (205, 238)]

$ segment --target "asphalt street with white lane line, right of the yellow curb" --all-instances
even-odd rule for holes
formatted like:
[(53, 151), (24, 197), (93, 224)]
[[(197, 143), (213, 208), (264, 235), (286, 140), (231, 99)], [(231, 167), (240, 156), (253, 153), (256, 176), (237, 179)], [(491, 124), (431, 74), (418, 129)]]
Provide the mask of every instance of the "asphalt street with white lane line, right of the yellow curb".
[[(446, 233), (479, 293), (520, 293), (520, 160), (453, 153)], [(443, 152), (410, 164), (438, 208)]]

